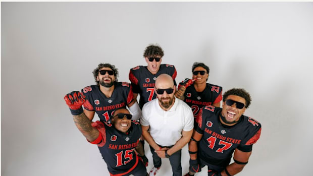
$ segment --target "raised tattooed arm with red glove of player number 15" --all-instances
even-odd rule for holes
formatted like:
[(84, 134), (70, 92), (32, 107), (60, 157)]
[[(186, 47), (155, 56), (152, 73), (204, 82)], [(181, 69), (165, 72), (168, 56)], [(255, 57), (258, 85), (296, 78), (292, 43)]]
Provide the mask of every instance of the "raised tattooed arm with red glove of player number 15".
[(88, 141), (94, 141), (98, 138), (99, 132), (91, 126), (90, 120), (85, 115), (82, 105), (85, 102), (85, 96), (79, 91), (73, 91), (64, 96), (66, 104), (69, 106), (78, 130)]

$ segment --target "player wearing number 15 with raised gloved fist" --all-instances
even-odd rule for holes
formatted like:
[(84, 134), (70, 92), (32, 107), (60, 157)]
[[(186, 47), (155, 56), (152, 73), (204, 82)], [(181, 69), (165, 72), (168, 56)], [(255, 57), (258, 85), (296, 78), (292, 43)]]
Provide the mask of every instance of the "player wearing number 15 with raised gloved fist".
[[(139, 142), (142, 134), (140, 124), (131, 121), (132, 115), (124, 108), (114, 112), (111, 124), (100, 121), (91, 123), (82, 109), (84, 98), (78, 91), (64, 97), (76, 127), (90, 143), (97, 144), (110, 175), (147, 175), (145, 166), (148, 159)], [(135, 149), (141, 157), (137, 156)]]

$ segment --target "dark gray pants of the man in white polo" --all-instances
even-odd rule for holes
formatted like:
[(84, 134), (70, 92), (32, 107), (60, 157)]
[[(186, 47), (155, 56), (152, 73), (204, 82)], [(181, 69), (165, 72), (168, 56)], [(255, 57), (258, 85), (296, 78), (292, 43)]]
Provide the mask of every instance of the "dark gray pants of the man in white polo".
[[(171, 148), (173, 146), (160, 146), (160, 147)], [(158, 156), (158, 154), (154, 152), (154, 149), (151, 146), (150, 146), (150, 150), (152, 153), (154, 167), (161, 167), (161, 164), (162, 164), (161, 158)], [(173, 153), (169, 158), (174, 176), (182, 175), (181, 156), (182, 156), (182, 150), (180, 149), (177, 152)]]

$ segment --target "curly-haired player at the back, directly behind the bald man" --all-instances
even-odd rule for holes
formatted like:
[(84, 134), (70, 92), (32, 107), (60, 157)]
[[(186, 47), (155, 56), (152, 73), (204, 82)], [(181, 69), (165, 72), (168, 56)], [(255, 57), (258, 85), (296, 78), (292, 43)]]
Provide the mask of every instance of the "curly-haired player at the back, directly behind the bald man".
[(161, 64), (164, 55), (163, 49), (157, 45), (149, 45), (146, 47), (143, 57), (147, 66), (137, 66), (130, 69), (129, 80), (131, 81), (134, 98), (140, 95), (139, 106), (151, 101), (156, 97), (154, 92), (154, 83), (156, 77), (161, 74), (170, 75), (176, 86), (176, 69), (173, 65)]

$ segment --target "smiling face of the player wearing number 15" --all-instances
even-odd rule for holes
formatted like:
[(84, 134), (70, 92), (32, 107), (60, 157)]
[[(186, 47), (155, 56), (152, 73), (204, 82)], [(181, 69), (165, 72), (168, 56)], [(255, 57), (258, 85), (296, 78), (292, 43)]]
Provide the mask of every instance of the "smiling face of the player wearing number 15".
[(112, 124), (114, 127), (123, 133), (126, 133), (129, 128), (131, 127), (131, 120), (128, 120), (126, 118), (126, 115), (123, 117), (123, 119), (119, 119), (118, 115), (119, 113), (125, 113), (125, 114), (130, 114), (127, 109), (118, 109), (114, 112), (113, 118), (112, 118)]

